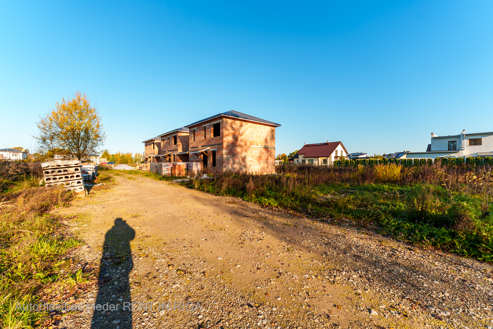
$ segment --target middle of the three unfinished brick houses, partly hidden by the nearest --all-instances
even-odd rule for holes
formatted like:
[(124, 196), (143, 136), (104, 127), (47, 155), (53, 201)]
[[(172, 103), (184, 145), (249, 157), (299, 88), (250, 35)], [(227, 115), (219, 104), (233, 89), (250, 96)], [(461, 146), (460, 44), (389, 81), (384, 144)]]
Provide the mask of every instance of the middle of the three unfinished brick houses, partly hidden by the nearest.
[(158, 162), (188, 162), (188, 128), (181, 127), (158, 137), (161, 138)]

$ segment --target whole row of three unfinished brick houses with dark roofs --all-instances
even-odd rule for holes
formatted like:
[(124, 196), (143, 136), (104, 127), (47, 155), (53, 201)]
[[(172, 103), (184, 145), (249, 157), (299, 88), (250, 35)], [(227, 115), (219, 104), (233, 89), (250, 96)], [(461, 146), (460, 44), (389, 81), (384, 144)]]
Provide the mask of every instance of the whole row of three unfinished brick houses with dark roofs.
[(167, 168), (173, 168), (174, 175), (206, 168), (212, 173), (274, 173), (276, 127), (280, 126), (233, 110), (219, 113), (142, 142), (145, 162), (151, 170), (162, 164), (161, 175)]

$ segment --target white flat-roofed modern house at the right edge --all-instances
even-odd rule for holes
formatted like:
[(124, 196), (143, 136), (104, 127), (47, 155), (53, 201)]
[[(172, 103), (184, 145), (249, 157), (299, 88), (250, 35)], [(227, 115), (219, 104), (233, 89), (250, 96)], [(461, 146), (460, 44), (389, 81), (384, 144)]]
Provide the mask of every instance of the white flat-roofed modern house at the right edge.
[(406, 153), (408, 159), (416, 158), (468, 158), (493, 157), (493, 132), (466, 134), (465, 130), (458, 135), (438, 136), (431, 133), (431, 144), (425, 152)]

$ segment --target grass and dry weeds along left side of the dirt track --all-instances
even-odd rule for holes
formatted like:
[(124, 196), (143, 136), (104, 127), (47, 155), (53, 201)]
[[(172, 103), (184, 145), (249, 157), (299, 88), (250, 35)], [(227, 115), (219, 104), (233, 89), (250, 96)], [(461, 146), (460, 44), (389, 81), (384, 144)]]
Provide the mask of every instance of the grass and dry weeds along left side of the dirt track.
[[(84, 280), (81, 271), (68, 270), (62, 256), (80, 242), (64, 232), (64, 218), (50, 210), (66, 207), (73, 193), (65, 189), (27, 187), (0, 194), (0, 327), (30, 328), (51, 323), (47, 312), (20, 310), (39, 304), (42, 294), (59, 285)], [(44, 300), (46, 301), (46, 300)]]

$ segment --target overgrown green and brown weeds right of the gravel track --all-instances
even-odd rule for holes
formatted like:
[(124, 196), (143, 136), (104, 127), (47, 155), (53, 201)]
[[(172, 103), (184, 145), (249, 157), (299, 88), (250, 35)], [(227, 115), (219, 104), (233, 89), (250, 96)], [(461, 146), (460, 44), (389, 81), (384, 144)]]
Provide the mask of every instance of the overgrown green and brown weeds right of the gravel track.
[(324, 221), (349, 219), (416, 246), (493, 261), (488, 165), (284, 165), (276, 175), (209, 175), (215, 179), (184, 184)]

